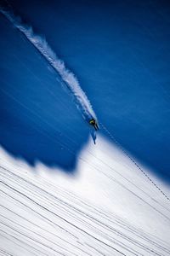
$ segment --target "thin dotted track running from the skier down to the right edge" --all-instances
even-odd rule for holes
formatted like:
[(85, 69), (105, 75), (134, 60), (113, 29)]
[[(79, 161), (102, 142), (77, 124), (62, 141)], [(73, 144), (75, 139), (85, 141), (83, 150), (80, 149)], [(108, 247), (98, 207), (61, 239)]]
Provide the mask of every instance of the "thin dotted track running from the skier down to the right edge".
[(107, 130), (105, 125), (103, 125), (100, 122), (99, 122), (99, 124), (103, 127), (103, 129), (107, 132), (107, 134), (111, 137), (111, 139), (116, 143), (118, 148), (120, 148), (122, 150), (122, 152), (127, 155), (127, 157), (133, 162), (133, 164), (135, 166), (137, 166), (139, 171), (142, 172), (144, 174), (144, 176), (147, 177), (150, 180), (150, 183), (152, 183), (156, 187), (156, 189), (158, 189), (160, 191), (161, 195), (163, 195), (167, 199), (167, 201), (170, 202), (169, 197), (158, 187), (158, 185), (156, 185), (156, 183), (148, 176), (148, 174), (146, 172), (144, 172), (144, 170), (139, 166), (139, 164), (137, 164), (137, 162), (135, 160), (133, 160), (132, 156), (130, 156), (130, 154), (127, 153), (127, 151), (122, 147), (121, 143), (118, 143), (116, 138), (111, 134), (110, 131)]

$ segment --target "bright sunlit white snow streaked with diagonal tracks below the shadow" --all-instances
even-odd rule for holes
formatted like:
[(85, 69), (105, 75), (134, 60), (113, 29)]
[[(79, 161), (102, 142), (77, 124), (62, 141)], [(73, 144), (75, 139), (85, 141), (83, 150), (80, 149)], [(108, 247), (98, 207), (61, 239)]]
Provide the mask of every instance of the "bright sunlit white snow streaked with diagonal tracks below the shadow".
[(170, 254), (168, 201), (103, 137), (73, 177), (0, 155), (0, 255)]

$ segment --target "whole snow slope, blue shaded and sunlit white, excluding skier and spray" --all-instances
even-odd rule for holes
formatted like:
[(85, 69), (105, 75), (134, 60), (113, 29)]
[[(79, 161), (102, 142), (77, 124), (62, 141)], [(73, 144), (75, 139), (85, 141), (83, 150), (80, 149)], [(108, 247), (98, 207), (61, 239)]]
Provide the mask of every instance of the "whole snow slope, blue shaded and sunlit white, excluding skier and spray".
[[(154, 170), (142, 166), (144, 172), (169, 198), (167, 184), (153, 175), (155, 167), (168, 174), (169, 96), (160, 82), (168, 82), (167, 21), (142, 3), (127, 12), (126, 1), (113, 11), (101, 3), (95, 9), (94, 1), (78, 5), (79, 13), (82, 1), (70, 3), (69, 12), (65, 1), (41, 1), (41, 12), (38, 1), (16, 2), (76, 71), (99, 121), (151, 163)], [(0, 255), (169, 255), (169, 201), (102, 125), (94, 145), (61, 79), (0, 20)]]

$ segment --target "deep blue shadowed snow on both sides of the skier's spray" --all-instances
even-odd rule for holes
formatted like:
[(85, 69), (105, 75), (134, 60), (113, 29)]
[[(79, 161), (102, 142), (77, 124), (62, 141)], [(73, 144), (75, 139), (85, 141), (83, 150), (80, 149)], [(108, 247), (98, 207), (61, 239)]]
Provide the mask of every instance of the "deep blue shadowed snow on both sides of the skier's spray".
[[(77, 75), (99, 121), (169, 180), (167, 2), (8, 2)], [(74, 170), (88, 125), (54, 71), (3, 15), (0, 32), (1, 145), (30, 164)]]

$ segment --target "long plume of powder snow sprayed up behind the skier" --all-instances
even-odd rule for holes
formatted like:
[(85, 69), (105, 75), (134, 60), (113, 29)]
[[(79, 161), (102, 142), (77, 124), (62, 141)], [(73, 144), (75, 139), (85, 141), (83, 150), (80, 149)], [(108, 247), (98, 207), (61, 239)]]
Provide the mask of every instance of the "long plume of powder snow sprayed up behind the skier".
[(54, 53), (54, 50), (48, 45), (45, 38), (35, 34), (31, 26), (27, 26), (22, 22), (20, 17), (15, 16), (12, 11), (1, 8), (0, 12), (22, 32), (26, 38), (33, 44), (41, 55), (48, 61), (54, 71), (59, 74), (60, 79), (64, 82), (68, 90), (74, 96), (77, 108), (81, 111), (84, 119), (89, 121), (90, 119), (97, 119), (94, 110), (88, 101), (88, 97), (82, 90), (77, 78), (69, 69), (65, 67), (64, 61), (60, 60), (59, 57)]

